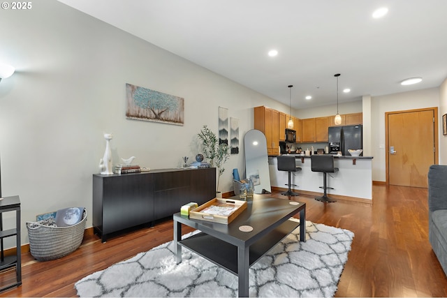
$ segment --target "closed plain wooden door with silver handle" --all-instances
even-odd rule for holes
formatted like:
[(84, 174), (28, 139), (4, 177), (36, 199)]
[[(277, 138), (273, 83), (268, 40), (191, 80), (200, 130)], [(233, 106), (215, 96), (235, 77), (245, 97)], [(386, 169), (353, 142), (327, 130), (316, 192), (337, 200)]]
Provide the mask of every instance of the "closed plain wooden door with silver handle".
[(427, 188), (437, 163), (437, 107), (386, 113), (388, 183)]

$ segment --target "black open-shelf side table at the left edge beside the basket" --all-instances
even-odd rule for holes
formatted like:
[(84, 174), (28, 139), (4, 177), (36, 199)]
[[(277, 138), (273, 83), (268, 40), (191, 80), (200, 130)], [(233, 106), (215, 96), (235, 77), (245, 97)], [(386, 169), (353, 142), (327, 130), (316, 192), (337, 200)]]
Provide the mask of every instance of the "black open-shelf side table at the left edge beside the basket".
[[(15, 211), (15, 228), (3, 230), (3, 213), (9, 211)], [(3, 238), (13, 236), (15, 236), (16, 239), (16, 253), (15, 255), (5, 256), (3, 250)], [(11, 267), (15, 267), (17, 282), (8, 285), (0, 285), (0, 292), (22, 285), (22, 263), (20, 249), (20, 198), (18, 195), (5, 197), (3, 198), (3, 200), (0, 200), (0, 271)]]

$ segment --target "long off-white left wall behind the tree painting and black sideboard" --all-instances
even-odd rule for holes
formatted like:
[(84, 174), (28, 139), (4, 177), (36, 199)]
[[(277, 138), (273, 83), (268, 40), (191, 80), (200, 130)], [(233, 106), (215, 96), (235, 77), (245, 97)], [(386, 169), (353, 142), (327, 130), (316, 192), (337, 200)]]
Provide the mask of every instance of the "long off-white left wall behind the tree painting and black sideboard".
[[(1, 11), (0, 60), (17, 68), (0, 82), (3, 196), (20, 195), (24, 223), (63, 207), (87, 207), (91, 175), (111, 141), (115, 163), (136, 156), (151, 168), (177, 167), (198, 154), (204, 124), (218, 131), (219, 106), (239, 119), (240, 154), (230, 157), (219, 189), (232, 189), (232, 169), (244, 170), (244, 134), (253, 107), (282, 105), (54, 0), (32, 10)], [(175, 38), (175, 37), (173, 37)], [(125, 118), (126, 83), (184, 98), (184, 126)], [(13, 218), (6, 218), (13, 225)]]

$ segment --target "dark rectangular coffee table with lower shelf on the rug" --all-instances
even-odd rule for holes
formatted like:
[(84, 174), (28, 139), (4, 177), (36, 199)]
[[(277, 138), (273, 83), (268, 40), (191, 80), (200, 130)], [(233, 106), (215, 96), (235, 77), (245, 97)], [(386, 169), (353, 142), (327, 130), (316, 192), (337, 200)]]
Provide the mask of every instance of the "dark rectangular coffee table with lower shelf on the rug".
[[(229, 198), (228, 200), (233, 200)], [(289, 221), (300, 212), (300, 223)], [(247, 209), (228, 225), (173, 215), (177, 264), (182, 262), (182, 246), (210, 260), (238, 277), (239, 297), (249, 295), (249, 268), (273, 246), (300, 226), (300, 241), (306, 241), (306, 204), (254, 195)], [(182, 240), (182, 223), (200, 230)], [(251, 232), (239, 228), (249, 225)]]

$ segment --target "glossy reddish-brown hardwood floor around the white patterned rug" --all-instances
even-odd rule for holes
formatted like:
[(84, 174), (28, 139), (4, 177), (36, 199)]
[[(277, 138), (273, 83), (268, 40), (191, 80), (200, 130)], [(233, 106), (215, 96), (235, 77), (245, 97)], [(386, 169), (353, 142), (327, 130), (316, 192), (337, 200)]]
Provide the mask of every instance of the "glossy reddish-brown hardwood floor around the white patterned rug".
[[(447, 297), (447, 277), (428, 242), (427, 189), (379, 185), (373, 198), (374, 204), (291, 198), (306, 202), (307, 220), (355, 233), (336, 297)], [(76, 281), (172, 239), (173, 222), (167, 220), (104, 244), (87, 235), (77, 251), (59, 260), (37, 262), (24, 253), (22, 286), (0, 297), (77, 297)], [(0, 283), (12, 276), (1, 274)]]

